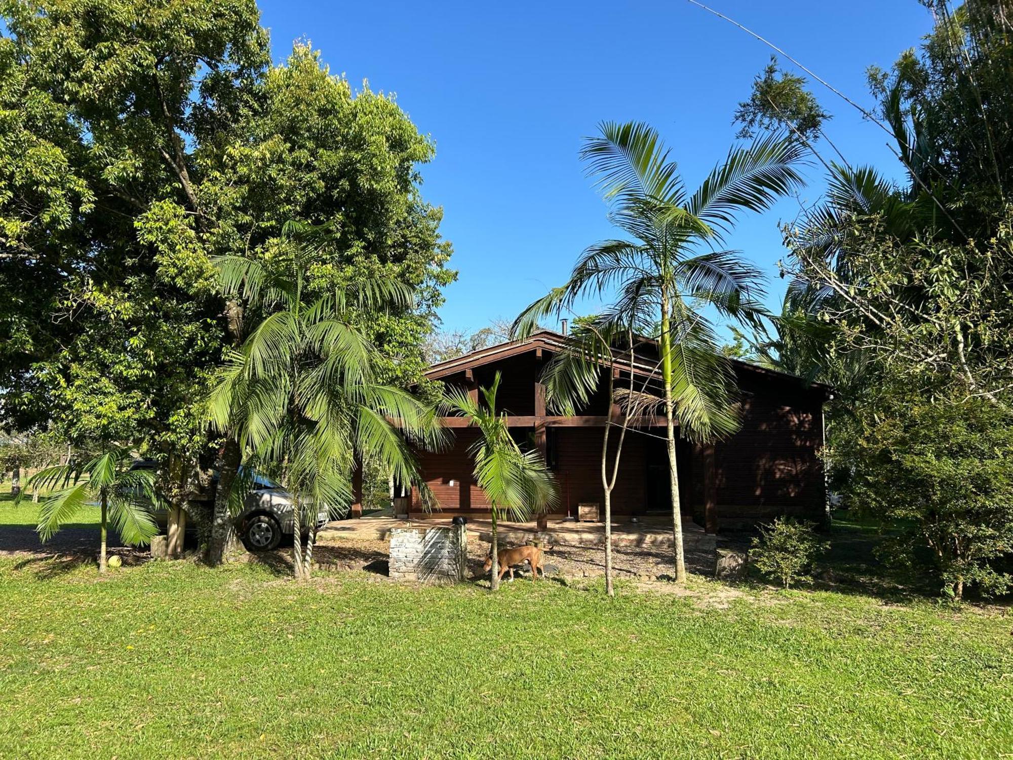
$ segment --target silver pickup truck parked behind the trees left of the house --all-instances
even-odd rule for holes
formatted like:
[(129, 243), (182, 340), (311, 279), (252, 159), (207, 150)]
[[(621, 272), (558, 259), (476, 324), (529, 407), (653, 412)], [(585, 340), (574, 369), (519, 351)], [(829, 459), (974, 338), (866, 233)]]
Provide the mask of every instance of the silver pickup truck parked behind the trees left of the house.
[[(155, 469), (157, 463), (150, 460), (134, 462), (131, 469)], [(214, 505), (214, 491), (218, 485), (218, 474), (212, 480), (209, 499), (200, 501)], [(248, 551), (270, 551), (277, 549), (283, 538), (291, 538), (295, 532), (293, 520), (293, 495), (259, 472), (252, 474), (250, 489), (243, 499), (243, 510), (235, 517), (236, 533)], [(165, 529), (168, 511), (156, 509), (155, 522)], [(319, 528), (330, 520), (329, 510), (319, 509), (316, 525)], [(303, 530), (307, 530), (304, 526)]]

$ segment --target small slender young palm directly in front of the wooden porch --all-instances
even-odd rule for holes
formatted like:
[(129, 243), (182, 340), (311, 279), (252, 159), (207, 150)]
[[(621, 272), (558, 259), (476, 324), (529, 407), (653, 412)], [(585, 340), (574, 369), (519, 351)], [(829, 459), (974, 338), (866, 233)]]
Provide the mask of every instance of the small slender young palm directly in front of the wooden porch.
[(492, 591), (499, 588), (499, 557), (496, 541), (496, 524), (504, 517), (516, 522), (527, 522), (533, 514), (545, 512), (556, 504), (555, 478), (545, 466), (541, 454), (522, 451), (506, 427), (506, 414), (496, 412), (496, 391), (499, 373), (492, 385), (482, 388), (485, 404), (472, 398), (460, 388), (445, 394), (444, 406), (467, 417), (478, 428), (481, 436), (471, 447), (475, 462), (475, 481), (489, 500), (492, 520)]

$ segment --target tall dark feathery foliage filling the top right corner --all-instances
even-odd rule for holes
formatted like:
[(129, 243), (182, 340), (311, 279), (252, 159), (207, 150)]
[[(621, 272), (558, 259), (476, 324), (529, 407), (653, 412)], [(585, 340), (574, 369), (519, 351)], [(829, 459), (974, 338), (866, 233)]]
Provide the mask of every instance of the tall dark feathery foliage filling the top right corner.
[[(879, 113), (921, 192), (950, 211), (935, 224), (984, 238), (1013, 191), (1013, 41), (1008, 3), (926, 0), (935, 26), (883, 71), (869, 69)], [(956, 230), (955, 230), (956, 231)]]

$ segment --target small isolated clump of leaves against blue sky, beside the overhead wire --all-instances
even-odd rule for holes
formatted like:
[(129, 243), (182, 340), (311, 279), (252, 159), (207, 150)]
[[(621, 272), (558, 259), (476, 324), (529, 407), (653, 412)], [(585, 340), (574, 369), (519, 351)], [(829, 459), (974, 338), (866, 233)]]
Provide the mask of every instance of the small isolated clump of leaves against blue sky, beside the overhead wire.
[(777, 56), (753, 80), (750, 99), (738, 103), (734, 124), (741, 124), (737, 137), (753, 138), (758, 132), (787, 129), (798, 140), (811, 143), (820, 138), (824, 122), (832, 117), (820, 106), (815, 96), (805, 89), (805, 78), (777, 65)]

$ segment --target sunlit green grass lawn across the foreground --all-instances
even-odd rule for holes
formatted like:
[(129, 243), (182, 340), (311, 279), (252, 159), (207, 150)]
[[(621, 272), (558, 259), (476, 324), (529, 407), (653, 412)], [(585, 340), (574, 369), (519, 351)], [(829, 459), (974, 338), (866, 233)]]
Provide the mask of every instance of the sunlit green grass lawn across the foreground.
[(1013, 753), (1001, 608), (28, 559), (0, 557), (0, 757)]

